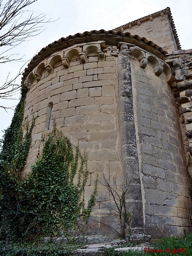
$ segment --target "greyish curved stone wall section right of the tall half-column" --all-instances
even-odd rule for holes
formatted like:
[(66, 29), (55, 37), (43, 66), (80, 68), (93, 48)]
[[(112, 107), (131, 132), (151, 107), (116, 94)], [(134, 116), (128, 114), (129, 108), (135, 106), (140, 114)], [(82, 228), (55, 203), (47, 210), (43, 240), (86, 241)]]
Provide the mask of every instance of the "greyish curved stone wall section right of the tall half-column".
[(165, 74), (131, 59), (144, 224), (154, 236), (189, 232), (189, 178), (179, 115)]

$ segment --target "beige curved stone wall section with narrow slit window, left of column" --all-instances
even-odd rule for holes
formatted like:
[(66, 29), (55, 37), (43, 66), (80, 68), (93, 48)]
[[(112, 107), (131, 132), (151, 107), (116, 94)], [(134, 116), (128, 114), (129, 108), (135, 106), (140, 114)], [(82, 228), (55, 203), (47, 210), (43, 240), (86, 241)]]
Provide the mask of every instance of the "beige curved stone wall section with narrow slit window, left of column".
[[(97, 47), (100, 46), (96, 44)], [(25, 118), (31, 122), (34, 115), (36, 119), (25, 172), (29, 172), (30, 166), (37, 160), (41, 134), (46, 135), (50, 131), (46, 130), (51, 103), (53, 108), (50, 128), (52, 129), (55, 119), (57, 128), (74, 145), (79, 143), (81, 151), (85, 149), (88, 152), (90, 174), (84, 193), (87, 202), (93, 192), (97, 172), (105, 172), (107, 177), (110, 169), (111, 183), (115, 179), (118, 188), (122, 183), (122, 167), (118, 130), (118, 49), (105, 46), (105, 56), (101, 54), (99, 57), (98, 49), (94, 48), (93, 43), (89, 45), (92, 47), (90, 52), (84, 45), (74, 45), (64, 53), (56, 52), (40, 63), (27, 79), (30, 89), (26, 96)], [(88, 55), (84, 64), (80, 59), (83, 47), (85, 51), (87, 49)], [(61, 61), (62, 54), (67, 57)], [(96, 234), (116, 236), (116, 232), (105, 225), (111, 223), (114, 229), (119, 229), (117, 218), (113, 216), (110, 207), (110, 196), (98, 183), (94, 215), (87, 233), (94, 230)]]

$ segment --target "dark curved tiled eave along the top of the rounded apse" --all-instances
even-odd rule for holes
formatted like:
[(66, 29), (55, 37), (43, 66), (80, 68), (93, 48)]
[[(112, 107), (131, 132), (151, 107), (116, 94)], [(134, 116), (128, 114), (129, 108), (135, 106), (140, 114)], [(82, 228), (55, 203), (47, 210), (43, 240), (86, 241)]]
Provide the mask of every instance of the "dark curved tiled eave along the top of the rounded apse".
[(53, 53), (67, 49), (75, 44), (78, 46), (78, 44), (87, 44), (93, 41), (105, 41), (106, 44), (115, 46), (117, 46), (119, 42), (134, 44), (160, 59), (164, 59), (164, 56), (167, 54), (166, 51), (157, 44), (154, 44), (152, 41), (148, 41), (144, 37), (140, 38), (138, 35), (131, 35), (129, 32), (123, 33), (114, 30), (105, 31), (102, 29), (99, 31), (93, 30), (90, 32), (84, 32), (82, 34), (77, 33), (76, 35), (70, 35), (67, 38), (61, 38), (58, 41), (54, 41), (52, 44), (47, 45), (47, 47), (42, 48), (41, 51), (32, 58), (28, 67), (25, 69), (22, 84), (29, 73), (31, 73), (40, 62), (44, 61), (44, 59), (48, 58)]

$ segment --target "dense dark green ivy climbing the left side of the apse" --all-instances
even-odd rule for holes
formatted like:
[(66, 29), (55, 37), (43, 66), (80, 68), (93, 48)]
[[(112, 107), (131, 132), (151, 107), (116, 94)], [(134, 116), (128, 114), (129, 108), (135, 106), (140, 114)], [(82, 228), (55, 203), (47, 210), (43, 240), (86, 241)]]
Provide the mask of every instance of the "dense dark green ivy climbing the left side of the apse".
[(42, 139), (42, 154), (23, 180), (34, 125), (34, 121), (30, 127), (26, 125), (23, 137), (23, 107), (24, 97), (5, 133), (0, 154), (0, 238), (33, 241), (69, 236), (87, 223), (96, 195), (95, 185), (85, 208), (87, 154), (81, 154), (79, 146), (74, 147), (54, 126)]

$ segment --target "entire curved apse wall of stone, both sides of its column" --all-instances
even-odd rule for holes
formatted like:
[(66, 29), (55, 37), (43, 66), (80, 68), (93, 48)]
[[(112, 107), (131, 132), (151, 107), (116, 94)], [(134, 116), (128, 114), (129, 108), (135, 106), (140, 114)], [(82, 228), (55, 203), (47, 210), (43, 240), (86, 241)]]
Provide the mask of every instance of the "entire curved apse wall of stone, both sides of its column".
[(87, 234), (121, 233), (113, 195), (102, 186), (104, 175), (116, 191), (129, 186), (125, 204), (135, 230), (180, 236), (190, 230), (190, 196), (178, 111), (169, 87), (172, 69), (163, 55), (158, 58), (117, 40), (116, 46), (105, 41), (75, 44), (29, 73), (23, 122), (30, 124), (35, 117), (35, 127), (23, 175), (41, 154), (41, 136), (52, 130), (55, 119), (73, 145), (79, 143), (88, 152), (86, 203), (100, 173)]

